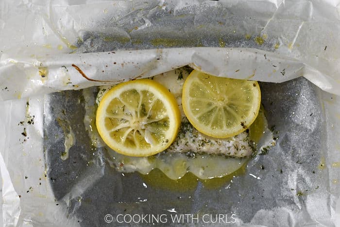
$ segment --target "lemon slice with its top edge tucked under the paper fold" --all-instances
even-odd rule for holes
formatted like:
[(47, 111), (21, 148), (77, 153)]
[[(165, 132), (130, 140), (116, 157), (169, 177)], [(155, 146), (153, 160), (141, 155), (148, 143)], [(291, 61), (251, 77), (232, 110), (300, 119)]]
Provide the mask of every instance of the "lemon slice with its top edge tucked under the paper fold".
[(238, 135), (255, 121), (261, 91), (256, 81), (193, 70), (184, 82), (182, 102), (187, 119), (198, 131), (227, 138)]

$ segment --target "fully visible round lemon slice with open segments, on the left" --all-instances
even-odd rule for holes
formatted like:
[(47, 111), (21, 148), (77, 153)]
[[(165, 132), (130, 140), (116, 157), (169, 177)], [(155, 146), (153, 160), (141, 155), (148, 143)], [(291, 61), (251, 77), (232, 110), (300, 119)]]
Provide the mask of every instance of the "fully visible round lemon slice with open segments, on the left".
[(175, 140), (181, 118), (174, 96), (150, 79), (125, 82), (100, 102), (96, 126), (116, 152), (144, 157), (167, 149)]

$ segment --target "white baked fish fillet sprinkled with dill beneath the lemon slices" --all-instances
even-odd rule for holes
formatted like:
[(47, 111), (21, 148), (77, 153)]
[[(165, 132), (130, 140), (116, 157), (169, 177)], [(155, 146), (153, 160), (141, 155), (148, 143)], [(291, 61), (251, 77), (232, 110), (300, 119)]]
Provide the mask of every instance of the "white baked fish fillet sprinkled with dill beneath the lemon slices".
[[(182, 88), (190, 69), (184, 67), (171, 70), (150, 79), (159, 82), (167, 87), (175, 96), (182, 115), (182, 122), (176, 140), (164, 152), (185, 153), (187, 156), (196, 154), (218, 154), (227, 157), (248, 157), (253, 153), (249, 145), (249, 130), (246, 130), (237, 136), (227, 139), (216, 139), (208, 137), (198, 132), (187, 120), (182, 107)], [(96, 98), (97, 104), (101, 101), (102, 96), (112, 86), (102, 86)]]

